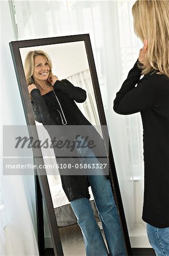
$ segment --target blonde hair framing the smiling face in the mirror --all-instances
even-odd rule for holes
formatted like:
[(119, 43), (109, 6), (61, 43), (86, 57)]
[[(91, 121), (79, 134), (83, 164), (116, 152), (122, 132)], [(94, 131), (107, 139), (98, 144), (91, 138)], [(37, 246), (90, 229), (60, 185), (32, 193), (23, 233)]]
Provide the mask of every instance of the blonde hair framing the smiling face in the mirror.
[(50, 57), (48, 56), (48, 54), (46, 52), (40, 51), (40, 50), (29, 51), (27, 53), (25, 63), (24, 63), (24, 73), (26, 75), (27, 85), (33, 84), (35, 82), (33, 80), (32, 75), (33, 75), (33, 71), (34, 71), (34, 60), (35, 60), (35, 57), (38, 55), (45, 56), (47, 58), (50, 71), (52, 71), (52, 61), (50, 60)]

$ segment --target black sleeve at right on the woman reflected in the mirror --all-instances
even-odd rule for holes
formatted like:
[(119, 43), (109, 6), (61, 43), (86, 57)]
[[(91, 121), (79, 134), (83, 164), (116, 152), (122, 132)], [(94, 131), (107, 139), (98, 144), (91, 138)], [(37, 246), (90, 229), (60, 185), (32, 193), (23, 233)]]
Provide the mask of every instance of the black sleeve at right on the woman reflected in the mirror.
[(58, 89), (61, 92), (66, 93), (72, 100), (82, 103), (86, 101), (86, 91), (80, 87), (74, 86), (68, 80), (57, 80), (54, 83), (54, 89)]

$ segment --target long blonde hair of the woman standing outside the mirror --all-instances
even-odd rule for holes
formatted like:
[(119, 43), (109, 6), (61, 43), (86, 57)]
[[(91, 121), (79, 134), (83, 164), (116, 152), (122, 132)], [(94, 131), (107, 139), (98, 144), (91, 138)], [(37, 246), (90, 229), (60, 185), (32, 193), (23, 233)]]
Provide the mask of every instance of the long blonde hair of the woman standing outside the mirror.
[(169, 1), (137, 0), (132, 8), (134, 32), (142, 40), (147, 39), (142, 74), (152, 69), (169, 77)]

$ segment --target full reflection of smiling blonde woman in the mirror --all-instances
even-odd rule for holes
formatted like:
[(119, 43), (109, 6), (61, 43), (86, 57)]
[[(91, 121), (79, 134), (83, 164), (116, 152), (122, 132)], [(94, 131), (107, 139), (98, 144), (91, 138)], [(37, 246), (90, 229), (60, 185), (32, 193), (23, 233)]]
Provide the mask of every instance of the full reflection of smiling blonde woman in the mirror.
[[(47, 128), (50, 138), (48, 127), (51, 125), (53, 127), (90, 125), (93, 132), (91, 137), (95, 136), (100, 147), (104, 147), (102, 137), (75, 104), (75, 101), (84, 102), (86, 100), (86, 91), (74, 86), (66, 79), (58, 80), (58, 77), (52, 73), (52, 61), (47, 53), (44, 51), (28, 52), (24, 71), (35, 119)], [(85, 132), (83, 135), (85, 136)], [(60, 137), (60, 131), (56, 129), (54, 136)], [(84, 137), (79, 136), (76, 140), (83, 142)], [(95, 151), (89, 147), (78, 147), (77, 155), (83, 164), (100, 163), (96, 157), (97, 152), (95, 154)], [(57, 159), (58, 161), (59, 159)], [(64, 163), (63, 159), (62, 163)], [(82, 230), (86, 255), (126, 255), (120, 218), (113, 199), (109, 177), (107, 175), (61, 175), (61, 180), (62, 187)], [(90, 185), (102, 221), (108, 250), (91, 208), (88, 192)]]

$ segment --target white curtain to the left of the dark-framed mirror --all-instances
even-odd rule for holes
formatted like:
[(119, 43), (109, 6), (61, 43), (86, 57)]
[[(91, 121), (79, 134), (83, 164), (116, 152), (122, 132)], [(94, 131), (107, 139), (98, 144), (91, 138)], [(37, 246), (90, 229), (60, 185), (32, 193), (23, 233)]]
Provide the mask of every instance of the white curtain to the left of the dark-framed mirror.
[[(9, 2), (1, 1), (1, 142), (3, 125), (26, 125), (9, 42), (16, 40)], [(3, 141), (10, 148), (10, 141)], [(2, 143), (1, 143), (1, 156)], [(24, 164), (24, 160), (21, 164)], [(35, 184), (33, 176), (6, 175), (1, 158), (1, 255), (39, 255), (36, 238)]]

